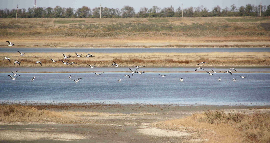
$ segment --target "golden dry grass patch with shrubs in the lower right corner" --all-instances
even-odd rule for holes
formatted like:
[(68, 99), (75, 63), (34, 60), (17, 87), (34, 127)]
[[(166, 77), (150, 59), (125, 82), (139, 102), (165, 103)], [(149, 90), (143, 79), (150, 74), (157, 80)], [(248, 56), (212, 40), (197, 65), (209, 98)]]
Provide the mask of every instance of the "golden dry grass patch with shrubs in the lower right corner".
[(189, 117), (161, 121), (152, 124), (167, 130), (199, 132), (196, 138), (209, 139), (207, 142), (265, 143), (270, 142), (270, 112), (253, 114), (208, 111)]

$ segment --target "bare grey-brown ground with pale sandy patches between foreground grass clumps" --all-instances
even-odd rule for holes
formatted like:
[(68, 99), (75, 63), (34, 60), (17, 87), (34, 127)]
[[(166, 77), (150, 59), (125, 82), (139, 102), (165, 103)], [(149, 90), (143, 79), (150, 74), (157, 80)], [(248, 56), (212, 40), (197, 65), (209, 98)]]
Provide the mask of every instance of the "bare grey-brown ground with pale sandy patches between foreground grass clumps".
[[(269, 111), (270, 106), (178, 106), (150, 104), (46, 104), (34, 105), (39, 109), (55, 111), (98, 111), (109, 113), (157, 112), (158, 115), (142, 116), (81, 116), (87, 124), (57, 123), (0, 123), (0, 142), (203, 142), (190, 138), (192, 134), (152, 128), (150, 123), (182, 118), (206, 110), (222, 109), (226, 112), (252, 113)], [(265, 109), (266, 108), (266, 109)]]

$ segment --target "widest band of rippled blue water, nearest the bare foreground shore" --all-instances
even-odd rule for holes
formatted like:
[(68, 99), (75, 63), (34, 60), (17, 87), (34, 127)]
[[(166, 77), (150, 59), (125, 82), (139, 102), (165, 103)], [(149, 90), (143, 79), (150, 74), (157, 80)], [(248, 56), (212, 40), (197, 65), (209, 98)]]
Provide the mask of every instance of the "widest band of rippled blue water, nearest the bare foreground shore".
[[(0, 73), (0, 100), (38, 102), (177, 103), (213, 105), (269, 105), (270, 73), (145, 73), (126, 72), (19, 73), (11, 80)], [(31, 82), (32, 77), (36, 78)], [(78, 83), (68, 79), (82, 78)], [(131, 74), (130, 74), (131, 75)], [(240, 78), (238, 75), (249, 75)], [(218, 81), (218, 78), (221, 81)], [(118, 82), (121, 78), (122, 81)], [(183, 82), (179, 78), (184, 78)], [(232, 78), (237, 78), (236, 82)]]

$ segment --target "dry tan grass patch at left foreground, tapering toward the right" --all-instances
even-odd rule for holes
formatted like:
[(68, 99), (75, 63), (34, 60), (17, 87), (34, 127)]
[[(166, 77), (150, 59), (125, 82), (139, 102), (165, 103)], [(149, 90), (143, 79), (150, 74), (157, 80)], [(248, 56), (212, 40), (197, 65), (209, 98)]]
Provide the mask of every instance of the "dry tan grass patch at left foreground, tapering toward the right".
[(54, 122), (54, 123), (87, 123), (89, 120), (79, 116), (140, 116), (157, 115), (155, 112), (139, 113), (106, 113), (83, 111), (49, 111), (31, 106), (0, 105), (0, 122)]

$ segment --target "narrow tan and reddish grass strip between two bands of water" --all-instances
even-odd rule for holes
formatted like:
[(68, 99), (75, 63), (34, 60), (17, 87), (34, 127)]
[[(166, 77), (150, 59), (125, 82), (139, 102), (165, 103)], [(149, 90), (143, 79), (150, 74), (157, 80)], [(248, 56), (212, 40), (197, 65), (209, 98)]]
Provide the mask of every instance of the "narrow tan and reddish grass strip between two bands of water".
[[(23, 52), (23, 51), (22, 51)], [(213, 52), (213, 53), (90, 53), (95, 57), (76, 57), (75, 53), (65, 53), (70, 62), (75, 62), (77, 67), (89, 67), (87, 64), (96, 67), (109, 67), (116, 62), (122, 67), (133, 67), (140, 65), (146, 67), (180, 67), (180, 66), (197, 66), (198, 63), (204, 61), (210, 64), (204, 66), (269, 66), (269, 52)], [(77, 53), (82, 54), (82, 53)], [(86, 55), (84, 53), (83, 55)], [(25, 56), (20, 56), (19, 53), (0, 53), (0, 58), (10, 57), (12, 62), (8, 60), (0, 60), (1, 67), (13, 67), (15, 60), (21, 61), (21, 67), (36, 67), (36, 61), (42, 61), (42, 67), (67, 67), (72, 65), (63, 65), (61, 61), (52, 63), (53, 60), (63, 60), (62, 53), (26, 53)], [(15, 66), (19, 66), (15, 64)], [(72, 66), (73, 67), (73, 66)]]

